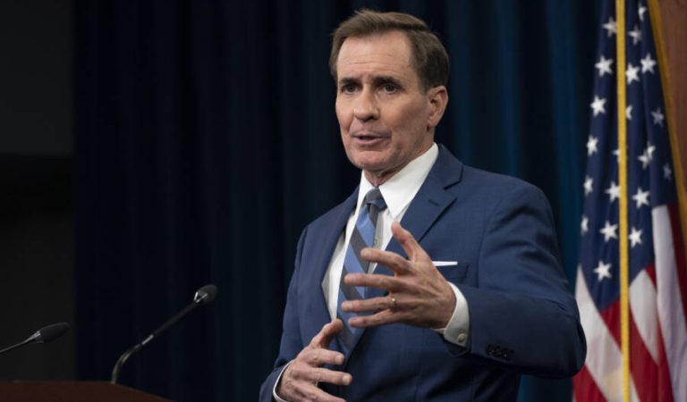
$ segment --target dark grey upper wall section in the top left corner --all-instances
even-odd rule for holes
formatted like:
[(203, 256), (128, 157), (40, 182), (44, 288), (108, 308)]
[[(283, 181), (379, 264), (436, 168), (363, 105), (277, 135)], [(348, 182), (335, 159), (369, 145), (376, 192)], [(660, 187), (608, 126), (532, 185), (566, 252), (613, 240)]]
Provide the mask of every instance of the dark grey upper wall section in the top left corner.
[(72, 152), (72, 0), (0, 2), (0, 153)]

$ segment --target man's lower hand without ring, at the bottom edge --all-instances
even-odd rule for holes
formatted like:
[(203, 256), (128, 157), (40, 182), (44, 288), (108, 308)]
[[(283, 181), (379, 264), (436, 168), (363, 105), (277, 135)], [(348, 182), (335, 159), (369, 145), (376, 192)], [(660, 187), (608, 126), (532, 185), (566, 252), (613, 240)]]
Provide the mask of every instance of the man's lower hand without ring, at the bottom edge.
[(344, 322), (338, 318), (327, 323), (310, 345), (303, 348), (301, 353), (286, 367), (276, 394), (288, 401), (324, 401), (345, 402), (342, 398), (335, 398), (318, 388), (319, 382), (329, 382), (335, 385), (351, 384), (349, 373), (335, 372), (322, 367), (325, 364), (344, 364), (344, 355), (329, 350), (329, 342), (344, 329)]

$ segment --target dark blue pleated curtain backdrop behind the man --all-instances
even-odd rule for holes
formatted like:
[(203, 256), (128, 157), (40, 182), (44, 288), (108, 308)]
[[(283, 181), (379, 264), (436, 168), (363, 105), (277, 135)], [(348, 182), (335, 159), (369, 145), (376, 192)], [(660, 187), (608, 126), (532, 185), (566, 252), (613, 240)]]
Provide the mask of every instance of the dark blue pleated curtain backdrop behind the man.
[[(133, 357), (122, 382), (180, 402), (257, 398), (299, 233), (359, 178), (327, 58), (363, 6), (437, 31), (452, 62), (438, 141), (546, 192), (573, 287), (597, 2), (77, 0), (80, 379), (108, 379), (212, 282), (216, 302)], [(525, 378), (521, 400), (570, 389)]]

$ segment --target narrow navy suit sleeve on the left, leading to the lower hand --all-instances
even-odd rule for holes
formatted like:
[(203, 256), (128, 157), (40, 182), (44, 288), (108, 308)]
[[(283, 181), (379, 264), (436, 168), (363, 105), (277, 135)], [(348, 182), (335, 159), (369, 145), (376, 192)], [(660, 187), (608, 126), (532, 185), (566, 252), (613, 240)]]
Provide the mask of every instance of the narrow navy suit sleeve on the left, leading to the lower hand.
[(291, 362), (301, 350), (305, 347), (302, 343), (300, 322), (298, 318), (298, 297), (296, 293), (298, 290), (298, 275), (301, 272), (301, 255), (302, 247), (305, 243), (305, 237), (308, 228), (301, 233), (301, 239), (298, 240), (298, 248), (296, 250), (295, 269), (289, 290), (286, 297), (286, 307), (284, 308), (284, 323), (282, 331), (282, 340), (279, 347), (279, 356), (276, 357), (275, 366), (267, 379), (260, 387), (260, 402), (271, 402), (272, 390), (275, 388), (275, 383), (279, 378), (279, 374), (284, 370), (284, 366)]

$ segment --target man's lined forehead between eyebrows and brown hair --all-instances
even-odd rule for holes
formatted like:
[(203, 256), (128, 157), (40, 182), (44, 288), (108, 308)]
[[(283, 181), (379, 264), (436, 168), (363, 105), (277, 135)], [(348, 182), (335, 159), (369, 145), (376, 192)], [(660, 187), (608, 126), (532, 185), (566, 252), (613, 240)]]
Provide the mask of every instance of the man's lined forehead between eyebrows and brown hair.
[(367, 75), (417, 78), (411, 66), (410, 40), (401, 31), (346, 38), (336, 61), (338, 80)]

